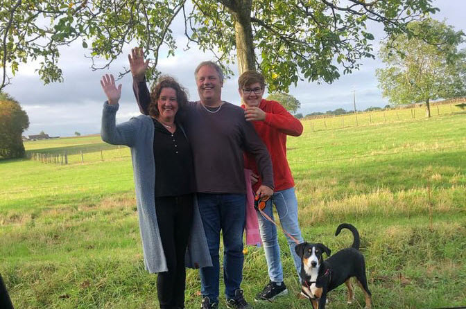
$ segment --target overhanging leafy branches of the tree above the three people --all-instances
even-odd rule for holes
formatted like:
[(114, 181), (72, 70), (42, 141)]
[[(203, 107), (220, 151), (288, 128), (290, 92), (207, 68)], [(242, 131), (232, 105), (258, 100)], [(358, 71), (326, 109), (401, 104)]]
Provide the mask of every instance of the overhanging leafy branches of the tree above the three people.
[[(110, 66), (126, 44), (145, 48), (148, 78), (157, 74), (162, 46), (174, 55), (173, 25), (184, 21), (187, 46), (210, 50), (239, 73), (257, 69), (270, 91), (297, 81), (332, 82), (374, 58), (369, 29), (387, 35), (438, 11), (432, 0), (3, 0), (0, 12), (0, 90), (19, 63), (39, 60), (45, 83), (62, 80), (60, 46), (82, 42), (94, 69)], [(100, 67), (95, 58), (107, 62)], [(7, 72), (8, 68), (8, 72)], [(227, 69), (227, 68), (226, 68)], [(227, 70), (228, 71), (228, 70)], [(123, 73), (128, 70), (123, 68)], [(230, 71), (231, 72), (231, 71)]]

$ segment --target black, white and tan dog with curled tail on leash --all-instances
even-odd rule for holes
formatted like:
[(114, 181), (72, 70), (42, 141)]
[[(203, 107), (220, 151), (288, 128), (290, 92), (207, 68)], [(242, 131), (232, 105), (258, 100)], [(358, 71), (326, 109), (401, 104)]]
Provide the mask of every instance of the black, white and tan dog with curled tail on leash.
[[(353, 244), (333, 256), (330, 256), (331, 250), (321, 243), (302, 242), (295, 247), (296, 254), (301, 258), (301, 294), (311, 301), (313, 309), (324, 309), (327, 293), (343, 283), (348, 289), (347, 302), (352, 303), (352, 277), (356, 277), (357, 285), (363, 290), (365, 308), (371, 308), (372, 294), (365, 276), (364, 256), (359, 251), (359, 233), (352, 224), (343, 223), (338, 225), (335, 236), (338, 236), (342, 229), (352, 231)], [(329, 256), (325, 261), (322, 257), (324, 253)]]

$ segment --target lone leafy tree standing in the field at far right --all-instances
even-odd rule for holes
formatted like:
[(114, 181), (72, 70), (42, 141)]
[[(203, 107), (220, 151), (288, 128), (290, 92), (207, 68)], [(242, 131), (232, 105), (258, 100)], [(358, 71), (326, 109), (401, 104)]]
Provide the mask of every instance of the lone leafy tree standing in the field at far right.
[(433, 19), (409, 28), (413, 36), (383, 42), (380, 55), (387, 67), (376, 75), (390, 103), (425, 102), (429, 117), (429, 100), (466, 95), (466, 51), (458, 51), (465, 34)]

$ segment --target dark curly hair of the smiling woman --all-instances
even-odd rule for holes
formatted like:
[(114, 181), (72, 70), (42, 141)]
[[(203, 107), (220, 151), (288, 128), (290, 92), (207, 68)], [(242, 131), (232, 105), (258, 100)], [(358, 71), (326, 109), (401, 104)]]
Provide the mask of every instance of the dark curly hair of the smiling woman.
[[(149, 115), (153, 117), (159, 116), (159, 109), (157, 107), (157, 101), (159, 100), (160, 92), (164, 88), (173, 88), (176, 91), (176, 100), (178, 102), (178, 112), (183, 109), (184, 105), (188, 103), (187, 89), (182, 87), (175, 78), (171, 76), (160, 76), (157, 82), (154, 82), (150, 87), (150, 104), (149, 104)], [(178, 114), (177, 112), (177, 114)]]

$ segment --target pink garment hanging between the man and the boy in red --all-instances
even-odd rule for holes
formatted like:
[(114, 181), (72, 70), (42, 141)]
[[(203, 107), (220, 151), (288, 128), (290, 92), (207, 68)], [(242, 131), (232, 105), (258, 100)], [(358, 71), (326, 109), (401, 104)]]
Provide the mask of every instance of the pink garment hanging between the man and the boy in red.
[(262, 243), (261, 234), (259, 232), (259, 222), (257, 221), (257, 213), (254, 209), (254, 193), (251, 185), (252, 170), (244, 169), (244, 177), (246, 182), (246, 245), (259, 247)]

